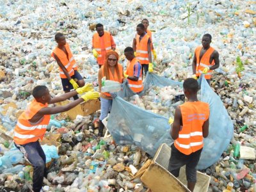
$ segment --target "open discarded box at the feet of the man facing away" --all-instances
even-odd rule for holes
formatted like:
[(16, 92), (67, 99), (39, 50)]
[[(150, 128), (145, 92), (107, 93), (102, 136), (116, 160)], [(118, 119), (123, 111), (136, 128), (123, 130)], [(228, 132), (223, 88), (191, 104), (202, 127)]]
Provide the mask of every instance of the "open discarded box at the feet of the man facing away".
[[(141, 176), (141, 181), (151, 189), (152, 192), (187, 192), (185, 168), (180, 168), (180, 175), (177, 179), (172, 173), (168, 172), (168, 164), (171, 156), (171, 148), (163, 143), (156, 152), (152, 164)], [(197, 182), (195, 192), (207, 192), (211, 177), (204, 173), (196, 173)]]

